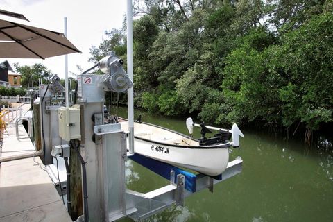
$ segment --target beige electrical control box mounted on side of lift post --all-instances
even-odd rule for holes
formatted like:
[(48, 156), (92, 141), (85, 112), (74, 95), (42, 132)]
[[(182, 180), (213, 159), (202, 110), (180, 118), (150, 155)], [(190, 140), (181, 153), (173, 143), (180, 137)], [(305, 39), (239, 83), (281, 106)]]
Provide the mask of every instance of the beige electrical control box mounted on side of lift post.
[(81, 139), (80, 132), (80, 106), (58, 109), (59, 136), (65, 141)]

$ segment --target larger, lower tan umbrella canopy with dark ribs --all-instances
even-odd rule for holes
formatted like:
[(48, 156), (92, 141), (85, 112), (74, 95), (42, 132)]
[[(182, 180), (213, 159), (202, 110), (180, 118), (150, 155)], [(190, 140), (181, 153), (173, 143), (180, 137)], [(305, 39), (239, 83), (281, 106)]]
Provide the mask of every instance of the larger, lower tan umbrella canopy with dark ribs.
[(0, 19), (0, 58), (49, 58), (80, 52), (64, 34)]

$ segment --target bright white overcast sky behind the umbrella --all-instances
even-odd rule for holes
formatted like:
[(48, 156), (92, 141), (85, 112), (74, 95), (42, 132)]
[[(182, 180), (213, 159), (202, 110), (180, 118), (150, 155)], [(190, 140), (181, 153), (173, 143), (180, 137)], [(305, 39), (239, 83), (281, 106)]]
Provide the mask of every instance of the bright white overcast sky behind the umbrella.
[[(82, 53), (68, 55), (69, 77), (79, 74), (77, 65), (83, 70), (94, 65), (88, 62), (89, 49), (99, 46), (104, 32), (112, 28), (121, 28), (126, 15), (125, 0), (0, 0), (0, 9), (23, 14), (30, 20), (31, 26), (46, 28), (64, 33), (64, 17), (67, 17), (67, 38)], [(27, 24), (23, 20), (17, 22)], [(0, 58), (0, 62), (8, 60), (14, 68), (19, 65), (42, 63), (53, 74), (65, 78), (65, 56), (41, 59)]]

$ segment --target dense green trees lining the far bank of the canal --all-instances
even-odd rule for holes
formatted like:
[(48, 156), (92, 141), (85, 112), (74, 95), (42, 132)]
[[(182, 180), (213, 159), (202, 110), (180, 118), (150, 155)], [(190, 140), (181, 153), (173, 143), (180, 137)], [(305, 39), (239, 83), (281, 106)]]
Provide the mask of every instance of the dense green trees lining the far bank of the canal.
[[(318, 130), (333, 116), (332, 0), (135, 1), (135, 101), (203, 121)], [(115, 49), (108, 33), (91, 60)]]

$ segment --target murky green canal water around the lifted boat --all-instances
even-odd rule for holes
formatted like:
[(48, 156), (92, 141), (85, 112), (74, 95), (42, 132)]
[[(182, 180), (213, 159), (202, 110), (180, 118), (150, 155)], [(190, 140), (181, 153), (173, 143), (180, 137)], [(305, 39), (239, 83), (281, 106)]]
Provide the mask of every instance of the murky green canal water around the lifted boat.
[[(126, 108), (119, 116), (127, 117)], [(188, 134), (185, 119), (171, 119), (135, 110), (135, 117)], [(221, 126), (222, 127), (222, 126)], [(241, 148), (230, 160), (243, 159), (243, 171), (185, 199), (146, 221), (333, 221), (333, 151), (322, 139), (311, 148), (301, 141), (243, 130)], [(200, 137), (196, 128), (195, 137)], [(148, 192), (169, 181), (129, 160), (129, 189)], [(125, 221), (129, 221), (126, 219)]]

